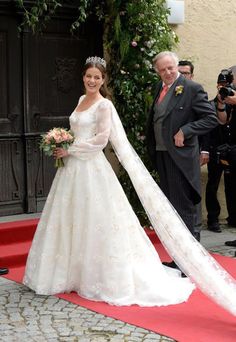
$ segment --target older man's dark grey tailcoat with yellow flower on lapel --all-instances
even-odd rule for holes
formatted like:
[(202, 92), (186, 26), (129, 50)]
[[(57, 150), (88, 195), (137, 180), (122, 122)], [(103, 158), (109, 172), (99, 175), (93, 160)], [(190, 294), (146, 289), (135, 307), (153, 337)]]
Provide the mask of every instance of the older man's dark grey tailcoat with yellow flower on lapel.
[[(153, 126), (154, 104), (159, 96), (162, 82), (157, 90), (152, 104), (147, 124), (147, 147), (153, 165), (158, 171), (155, 158), (155, 134)], [(181, 94), (173, 92), (168, 102), (162, 123), (163, 141), (170, 157), (183, 173), (193, 188), (194, 202), (201, 200), (200, 163), (198, 135), (203, 135), (218, 125), (216, 113), (208, 101), (206, 92), (196, 82), (179, 76), (174, 87), (182, 87)], [(184, 133), (184, 147), (174, 144), (174, 135), (181, 129)]]

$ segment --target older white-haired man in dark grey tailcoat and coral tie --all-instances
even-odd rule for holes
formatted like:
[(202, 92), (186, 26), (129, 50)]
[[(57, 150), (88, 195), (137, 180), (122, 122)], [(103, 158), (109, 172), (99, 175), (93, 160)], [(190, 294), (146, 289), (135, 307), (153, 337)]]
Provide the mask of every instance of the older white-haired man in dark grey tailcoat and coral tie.
[[(147, 146), (160, 188), (194, 235), (196, 204), (201, 201), (198, 135), (209, 132), (218, 121), (202, 86), (181, 75), (178, 62), (170, 51), (153, 60), (161, 81), (148, 120)], [(174, 262), (168, 266), (177, 267)]]

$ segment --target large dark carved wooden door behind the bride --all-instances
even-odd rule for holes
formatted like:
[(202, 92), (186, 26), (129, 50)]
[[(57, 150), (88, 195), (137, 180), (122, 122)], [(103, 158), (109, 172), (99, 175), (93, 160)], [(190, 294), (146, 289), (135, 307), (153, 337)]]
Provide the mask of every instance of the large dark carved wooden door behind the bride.
[(69, 126), (85, 59), (102, 55), (102, 26), (92, 20), (72, 36), (69, 18), (19, 36), (16, 16), (0, 13), (0, 216), (42, 210), (56, 169), (40, 135)]

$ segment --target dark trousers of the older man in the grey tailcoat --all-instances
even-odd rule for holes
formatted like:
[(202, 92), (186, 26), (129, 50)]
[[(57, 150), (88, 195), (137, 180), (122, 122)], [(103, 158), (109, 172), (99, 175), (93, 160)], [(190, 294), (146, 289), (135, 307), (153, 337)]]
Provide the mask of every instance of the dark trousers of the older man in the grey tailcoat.
[(193, 203), (191, 185), (167, 151), (156, 152), (156, 165), (161, 190), (176, 209), (189, 231), (199, 239), (199, 233), (195, 234), (199, 216), (198, 208)]

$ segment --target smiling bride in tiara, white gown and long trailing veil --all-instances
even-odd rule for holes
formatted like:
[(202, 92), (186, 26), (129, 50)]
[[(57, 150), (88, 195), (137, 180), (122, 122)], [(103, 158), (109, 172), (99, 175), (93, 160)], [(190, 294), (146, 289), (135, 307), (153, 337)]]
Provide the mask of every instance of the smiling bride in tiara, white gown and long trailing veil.
[[(76, 291), (113, 305), (162, 306), (186, 301), (196, 284), (236, 315), (236, 283), (193, 238), (129, 144), (106, 99), (106, 62), (86, 60), (85, 95), (70, 116), (74, 143), (39, 221), (23, 283), (38, 294)], [(162, 265), (103, 154), (108, 141), (128, 172), (168, 253), (189, 276)], [(178, 244), (181, 241), (181, 246)]]

